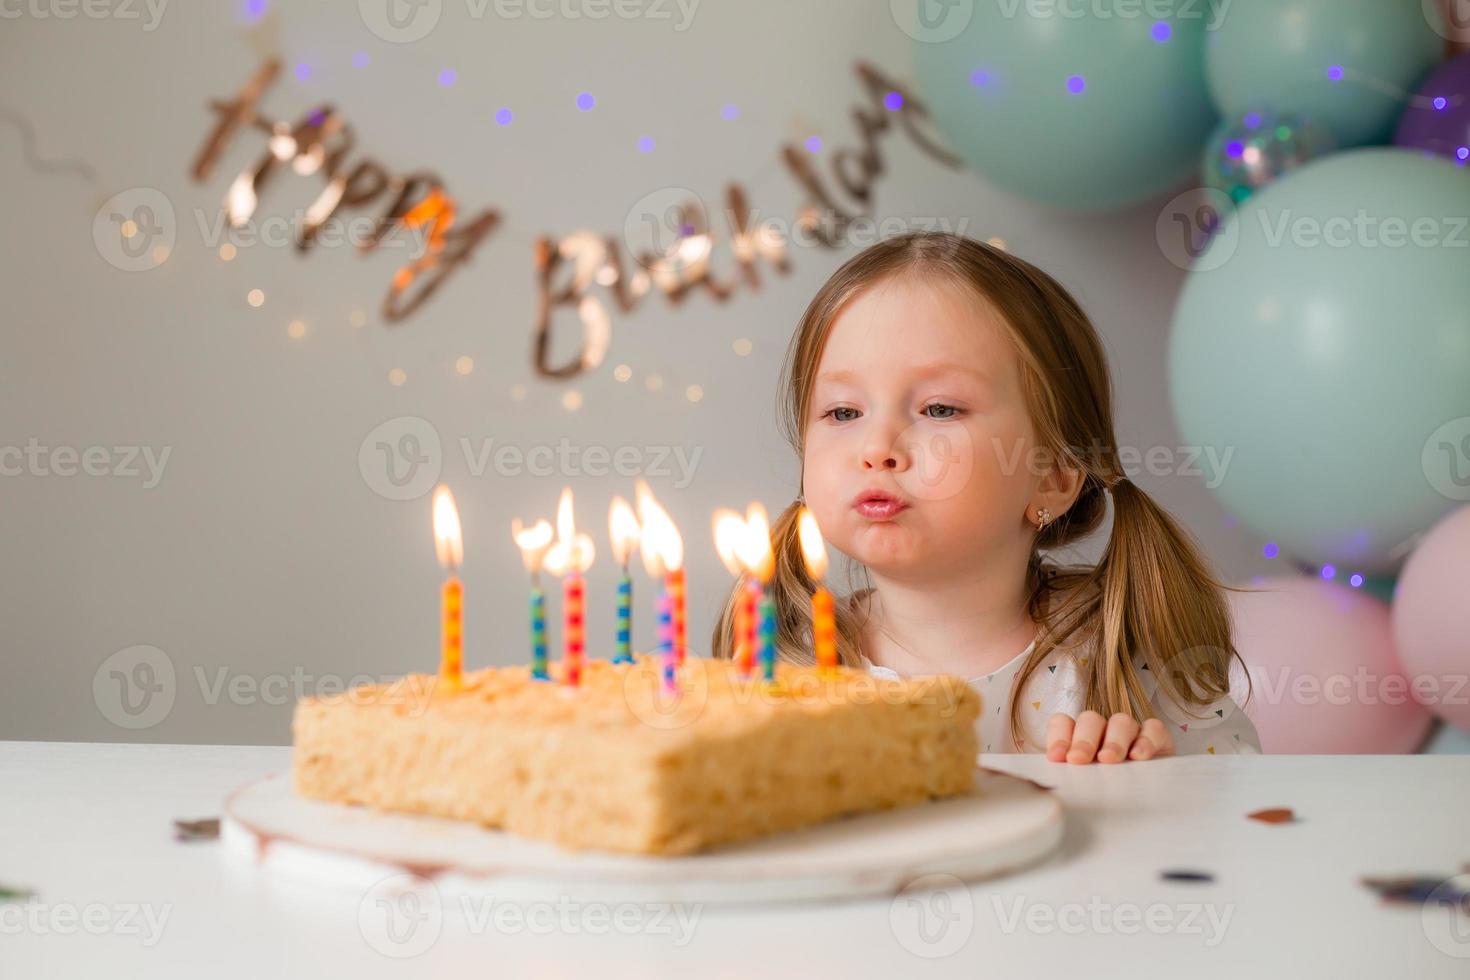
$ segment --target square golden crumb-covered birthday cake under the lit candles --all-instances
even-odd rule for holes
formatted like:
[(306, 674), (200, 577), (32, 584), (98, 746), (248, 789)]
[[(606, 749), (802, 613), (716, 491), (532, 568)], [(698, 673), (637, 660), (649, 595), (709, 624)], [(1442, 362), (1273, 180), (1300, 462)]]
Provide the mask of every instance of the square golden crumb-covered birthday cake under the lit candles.
[(679, 855), (848, 814), (967, 793), (979, 693), (778, 664), (775, 683), (688, 657), (589, 660), (579, 683), (529, 667), (460, 683), (407, 674), (303, 698), (297, 793), (467, 820), (570, 849)]

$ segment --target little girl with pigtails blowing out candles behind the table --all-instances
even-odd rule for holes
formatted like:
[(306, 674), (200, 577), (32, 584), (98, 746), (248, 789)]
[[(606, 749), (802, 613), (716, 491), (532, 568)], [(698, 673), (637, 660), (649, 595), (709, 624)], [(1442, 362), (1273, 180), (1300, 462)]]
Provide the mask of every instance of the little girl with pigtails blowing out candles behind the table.
[[(842, 663), (967, 677), (982, 751), (1260, 752), (1230, 698), (1227, 586), (1123, 475), (1102, 344), (1057, 281), (958, 235), (885, 239), (817, 291), (781, 386), (803, 469), (772, 526), (781, 658), (811, 663), (806, 504), (872, 582), (838, 604)], [(1044, 560), (1095, 530), (1107, 498), (1095, 567)], [(716, 657), (738, 599), (739, 583)]]

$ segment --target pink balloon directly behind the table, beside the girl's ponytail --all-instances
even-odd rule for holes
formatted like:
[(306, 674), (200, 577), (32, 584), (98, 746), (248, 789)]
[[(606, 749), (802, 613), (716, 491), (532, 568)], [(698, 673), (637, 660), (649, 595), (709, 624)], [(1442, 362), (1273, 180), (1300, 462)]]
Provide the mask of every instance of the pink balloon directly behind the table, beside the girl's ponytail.
[[(1230, 594), (1251, 671), (1245, 714), (1270, 754), (1413, 752), (1433, 717), (1394, 655), (1388, 605), (1322, 579), (1270, 579)], [(1244, 699), (1244, 685), (1235, 686)]]

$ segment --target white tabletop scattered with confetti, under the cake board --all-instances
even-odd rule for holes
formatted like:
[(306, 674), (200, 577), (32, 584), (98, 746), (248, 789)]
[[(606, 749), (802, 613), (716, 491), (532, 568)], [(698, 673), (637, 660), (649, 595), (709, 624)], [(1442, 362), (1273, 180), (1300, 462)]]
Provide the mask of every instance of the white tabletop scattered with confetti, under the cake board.
[[(0, 904), (0, 976), (1470, 976), (1470, 923), (1451, 933), (1448, 909), (1380, 905), (1357, 882), (1470, 861), (1470, 757), (997, 755), (985, 764), (1055, 786), (1069, 808), (1061, 851), (1007, 879), (682, 918), (445, 905), (420, 908), (428, 933), (392, 934), (363, 895), (173, 840), (173, 818), (218, 815), (231, 789), (288, 764), (284, 746), (0, 742), (0, 884), (37, 890)], [(1263, 807), (1299, 821), (1245, 818)]]

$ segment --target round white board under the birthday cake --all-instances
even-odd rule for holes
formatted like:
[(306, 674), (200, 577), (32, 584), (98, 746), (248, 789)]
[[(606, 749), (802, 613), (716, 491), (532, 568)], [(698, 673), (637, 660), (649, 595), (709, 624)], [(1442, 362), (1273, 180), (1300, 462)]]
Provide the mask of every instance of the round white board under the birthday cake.
[(220, 835), (231, 855), (266, 871), (357, 890), (398, 876), (431, 880), (441, 898), (816, 901), (897, 895), (928, 874), (995, 877), (1060, 843), (1061, 804), (1044, 788), (976, 768), (976, 789), (973, 796), (659, 858), (564, 851), (475, 823), (306, 799), (293, 790), (290, 773), (276, 773), (225, 802)]

